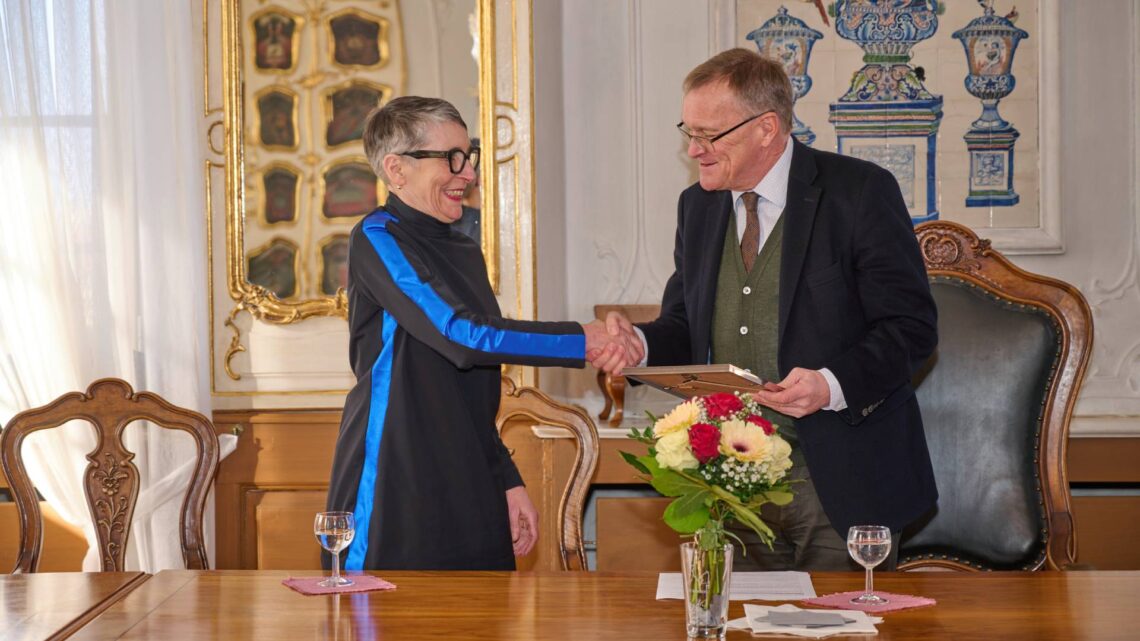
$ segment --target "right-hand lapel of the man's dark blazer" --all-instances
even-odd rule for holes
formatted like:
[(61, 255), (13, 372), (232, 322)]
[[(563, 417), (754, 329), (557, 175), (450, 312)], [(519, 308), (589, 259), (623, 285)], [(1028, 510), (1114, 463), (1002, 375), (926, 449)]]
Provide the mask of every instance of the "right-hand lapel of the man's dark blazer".
[(783, 344), (788, 315), (796, 299), (799, 275), (807, 259), (812, 240), (815, 211), (820, 206), (821, 189), (814, 185), (816, 168), (812, 149), (792, 138), (791, 171), (788, 179), (788, 202), (784, 205), (784, 237), (780, 260), (780, 339)]

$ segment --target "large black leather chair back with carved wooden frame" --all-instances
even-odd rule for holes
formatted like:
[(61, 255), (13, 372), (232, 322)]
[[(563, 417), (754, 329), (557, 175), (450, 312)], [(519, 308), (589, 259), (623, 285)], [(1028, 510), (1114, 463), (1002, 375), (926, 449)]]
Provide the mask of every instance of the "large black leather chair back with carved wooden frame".
[(915, 234), (938, 306), (938, 349), (915, 386), (939, 497), (903, 533), (899, 568), (1070, 565), (1066, 448), (1092, 349), (1089, 305), (967, 227)]

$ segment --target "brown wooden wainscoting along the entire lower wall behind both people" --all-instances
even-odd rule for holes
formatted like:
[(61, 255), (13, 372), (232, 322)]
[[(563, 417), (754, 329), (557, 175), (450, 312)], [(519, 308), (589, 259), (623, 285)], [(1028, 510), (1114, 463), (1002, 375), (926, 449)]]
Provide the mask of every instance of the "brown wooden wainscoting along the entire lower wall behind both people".
[[(221, 463), (217, 486), (217, 559), (222, 569), (315, 569), (319, 550), (312, 516), (325, 504), (340, 412), (217, 412), (219, 431), (241, 431), (237, 451)], [(557, 569), (557, 508), (573, 461), (573, 441), (536, 438), (526, 421), (510, 423), (503, 440), (542, 514), (539, 547), (520, 569)], [(638, 449), (641, 448), (641, 449)], [(594, 487), (629, 487), (640, 481), (618, 451), (643, 452), (626, 439), (603, 438)], [(1140, 438), (1074, 438), (1069, 480), (1078, 488), (1073, 505), (1078, 561), (1098, 569), (1140, 569), (1140, 495), (1086, 496), (1080, 488), (1140, 488)], [(662, 521), (667, 500), (601, 498), (596, 504), (596, 568), (676, 570), (677, 535)], [(6, 509), (11, 516), (6, 517)], [(16, 541), (15, 506), (0, 503), (0, 533)], [(10, 533), (10, 534), (9, 534)], [(58, 537), (49, 529), (49, 541)], [(82, 539), (80, 538), (80, 543)], [(82, 547), (78, 559), (82, 558)], [(54, 555), (52, 555), (54, 557)], [(14, 562), (15, 543), (0, 550)], [(60, 555), (58, 560), (63, 560)], [(79, 561), (74, 568), (78, 569)], [(68, 569), (68, 568), (54, 568)]]

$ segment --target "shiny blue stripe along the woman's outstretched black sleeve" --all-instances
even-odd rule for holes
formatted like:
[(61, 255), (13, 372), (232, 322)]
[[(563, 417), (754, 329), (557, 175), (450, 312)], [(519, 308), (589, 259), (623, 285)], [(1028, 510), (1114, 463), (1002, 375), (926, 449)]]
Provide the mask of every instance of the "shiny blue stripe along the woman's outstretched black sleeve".
[(538, 334), (500, 330), (459, 318), (440, 295), (420, 279), (404, 251), (384, 228), (393, 220), (388, 212), (377, 212), (364, 221), (364, 233), (384, 261), (396, 286), (423, 310), (432, 325), (451, 342), (488, 354), (581, 359), (586, 354), (584, 334)]

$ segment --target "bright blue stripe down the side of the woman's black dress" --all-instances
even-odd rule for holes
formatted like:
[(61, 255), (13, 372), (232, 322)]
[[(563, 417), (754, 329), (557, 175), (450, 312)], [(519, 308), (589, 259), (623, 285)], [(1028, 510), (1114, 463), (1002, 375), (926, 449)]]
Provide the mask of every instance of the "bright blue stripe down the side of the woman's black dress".
[(349, 553), (344, 559), (344, 569), (363, 570), (364, 560), (368, 554), (368, 530), (372, 528), (373, 502), (376, 497), (376, 473), (380, 470), (380, 441), (384, 436), (384, 420), (388, 417), (388, 398), (392, 387), (392, 336), (396, 334), (396, 319), (384, 313), (383, 330), (381, 330), (380, 357), (372, 365), (372, 398), (368, 405), (368, 429), (364, 438), (364, 465), (360, 470), (360, 484), (357, 486), (356, 508), (352, 518), (356, 520), (356, 536), (349, 544)]

